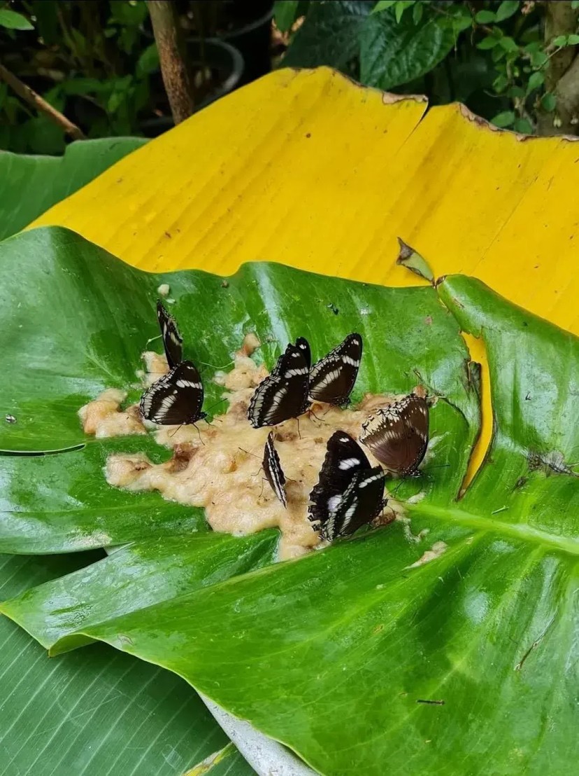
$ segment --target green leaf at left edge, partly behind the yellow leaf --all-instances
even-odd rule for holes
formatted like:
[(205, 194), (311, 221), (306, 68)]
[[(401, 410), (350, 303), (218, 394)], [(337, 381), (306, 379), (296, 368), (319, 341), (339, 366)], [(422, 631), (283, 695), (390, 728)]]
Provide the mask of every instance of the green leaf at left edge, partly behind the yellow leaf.
[(145, 143), (143, 137), (76, 140), (61, 157), (0, 151), (0, 240), (28, 226)]

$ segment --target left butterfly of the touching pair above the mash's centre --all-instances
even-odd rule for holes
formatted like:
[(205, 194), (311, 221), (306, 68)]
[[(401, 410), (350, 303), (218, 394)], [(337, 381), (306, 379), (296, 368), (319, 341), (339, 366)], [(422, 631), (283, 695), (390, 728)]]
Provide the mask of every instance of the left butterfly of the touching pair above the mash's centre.
[(303, 338), (285, 348), (271, 375), (261, 381), (251, 397), (247, 417), (253, 428), (275, 426), (307, 410), (308, 355), (309, 345)]

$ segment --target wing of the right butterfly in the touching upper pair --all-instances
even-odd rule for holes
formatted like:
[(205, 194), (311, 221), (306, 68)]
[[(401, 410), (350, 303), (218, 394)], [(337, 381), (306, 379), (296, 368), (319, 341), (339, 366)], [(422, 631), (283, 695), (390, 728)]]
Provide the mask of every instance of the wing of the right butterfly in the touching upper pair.
[(343, 342), (310, 369), (309, 395), (312, 401), (347, 404), (356, 383), (361, 359), (361, 334), (348, 334)]

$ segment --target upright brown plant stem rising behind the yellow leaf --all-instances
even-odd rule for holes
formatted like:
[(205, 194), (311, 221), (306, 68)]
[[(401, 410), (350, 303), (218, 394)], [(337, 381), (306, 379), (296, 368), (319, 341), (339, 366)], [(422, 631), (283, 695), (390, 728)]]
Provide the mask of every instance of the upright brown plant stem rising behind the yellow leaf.
[(172, 0), (147, 0), (165, 91), (176, 124), (193, 113), (195, 101), (184, 57), (184, 43)]

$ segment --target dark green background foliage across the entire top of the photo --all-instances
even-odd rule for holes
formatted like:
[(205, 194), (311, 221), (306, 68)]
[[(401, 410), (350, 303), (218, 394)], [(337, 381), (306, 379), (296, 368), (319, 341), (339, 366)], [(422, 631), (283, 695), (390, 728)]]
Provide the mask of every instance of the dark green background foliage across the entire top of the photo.
[[(272, 3), (175, 5), (185, 35), (226, 40), (240, 8), (259, 16)], [(270, 61), (326, 64), (364, 85), (424, 93), (431, 105), (464, 102), (499, 127), (577, 134), (578, 18), (579, 0), (278, 0), (264, 62), (246, 63), (244, 81)], [(257, 39), (246, 45), (256, 50)], [(144, 0), (0, 0), (0, 50), (0, 64), (88, 137), (147, 134), (160, 118), (171, 126)], [(193, 81), (202, 94), (204, 73)], [(65, 142), (0, 75), (0, 147), (59, 154)]]

